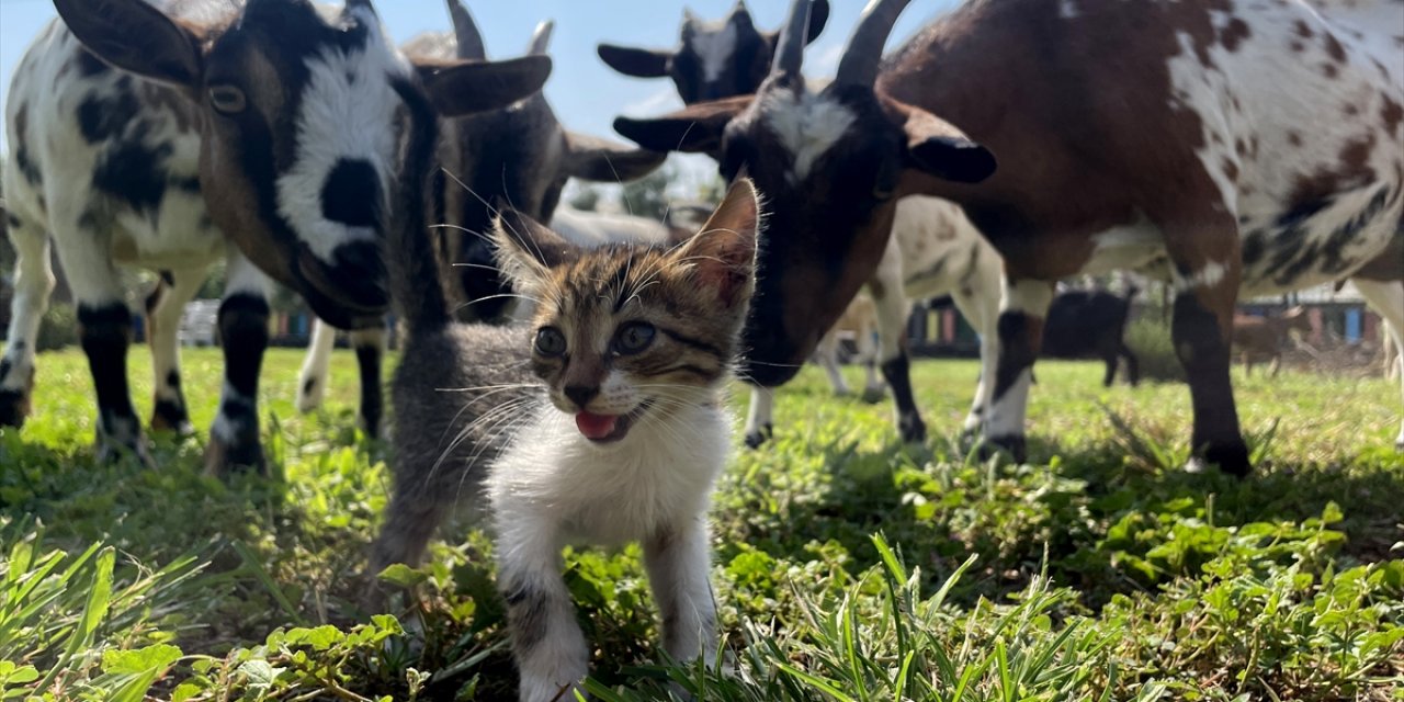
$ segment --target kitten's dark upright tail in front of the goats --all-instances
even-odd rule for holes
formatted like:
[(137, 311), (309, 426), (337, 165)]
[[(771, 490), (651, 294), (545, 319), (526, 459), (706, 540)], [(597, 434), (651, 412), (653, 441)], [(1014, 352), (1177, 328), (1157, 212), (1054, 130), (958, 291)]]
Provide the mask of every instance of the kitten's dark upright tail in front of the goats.
[(438, 277), (438, 261), (430, 244), (425, 222), (438, 173), (438, 114), (428, 97), (410, 81), (397, 81), (396, 91), (410, 112), (404, 153), (404, 177), (396, 202), (396, 219), (385, 241), (390, 274), (390, 296), (410, 337), (448, 324), (448, 300)]

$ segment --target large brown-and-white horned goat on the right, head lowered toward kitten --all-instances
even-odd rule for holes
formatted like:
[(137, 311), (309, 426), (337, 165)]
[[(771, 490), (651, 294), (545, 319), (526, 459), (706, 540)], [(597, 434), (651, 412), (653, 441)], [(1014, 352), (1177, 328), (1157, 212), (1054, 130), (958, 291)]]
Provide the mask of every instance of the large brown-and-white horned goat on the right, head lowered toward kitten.
[(868, 6), (820, 93), (800, 74), (799, 0), (755, 95), (615, 122), (643, 146), (719, 152), (726, 176), (744, 168), (765, 192), (751, 379), (793, 376), (914, 194), (960, 204), (1004, 257), (984, 437), (1018, 458), (1063, 277), (1174, 281), (1191, 468), (1250, 470), (1228, 378), (1240, 293), (1351, 277), (1404, 333), (1404, 60), (1390, 35), (1404, 3), (970, 1), (885, 62), (906, 6)]

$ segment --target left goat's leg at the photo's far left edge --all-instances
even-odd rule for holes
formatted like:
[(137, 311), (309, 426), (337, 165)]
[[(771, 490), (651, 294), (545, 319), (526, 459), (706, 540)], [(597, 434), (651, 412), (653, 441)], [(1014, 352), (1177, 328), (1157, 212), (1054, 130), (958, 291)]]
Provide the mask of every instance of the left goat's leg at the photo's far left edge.
[(49, 236), (37, 223), (6, 215), (14, 244), (14, 299), (10, 300), (10, 334), (0, 358), (0, 427), (20, 427), (29, 416), (34, 399), (34, 352), (39, 320), (49, 309), (53, 271), (49, 264)]

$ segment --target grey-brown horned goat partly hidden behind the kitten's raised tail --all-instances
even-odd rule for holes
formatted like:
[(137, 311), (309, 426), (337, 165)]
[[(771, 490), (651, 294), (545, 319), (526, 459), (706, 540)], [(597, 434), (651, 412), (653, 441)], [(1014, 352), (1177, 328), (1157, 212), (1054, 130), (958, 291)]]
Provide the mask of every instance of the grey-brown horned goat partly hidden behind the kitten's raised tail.
[[(446, 6), (453, 31), (421, 34), (402, 51), (420, 60), (486, 60), (483, 37), (468, 7), (459, 0), (446, 0)], [(546, 56), (553, 27), (550, 21), (536, 27), (526, 58)], [(455, 117), (441, 129), (444, 171), (435, 180), (435, 223), (444, 226), (435, 243), (451, 300), (463, 322), (512, 319), (512, 291), (496, 270), (482, 236), (496, 212), (494, 201), (511, 204), (545, 222), (556, 209), (566, 180), (629, 181), (651, 173), (667, 157), (567, 132), (539, 91), (493, 111)], [(330, 330), (313, 324), (312, 344), (298, 379), (300, 411), (322, 403), (333, 341)], [(366, 393), (368, 388), (375, 388), (372, 407), (378, 410), (383, 334), (352, 331), (351, 343), (361, 365), (359, 424), (369, 425), (368, 432), (373, 434)]]

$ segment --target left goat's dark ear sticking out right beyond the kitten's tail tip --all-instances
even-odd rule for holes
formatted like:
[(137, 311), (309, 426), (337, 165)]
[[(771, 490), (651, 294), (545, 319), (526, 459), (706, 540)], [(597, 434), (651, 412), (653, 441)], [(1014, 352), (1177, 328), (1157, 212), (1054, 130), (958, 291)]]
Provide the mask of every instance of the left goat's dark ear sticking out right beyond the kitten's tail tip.
[(411, 58), (441, 117), (501, 110), (541, 90), (550, 76), (549, 56), (510, 60)]

